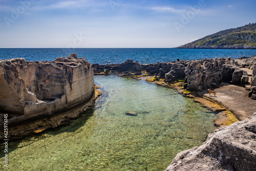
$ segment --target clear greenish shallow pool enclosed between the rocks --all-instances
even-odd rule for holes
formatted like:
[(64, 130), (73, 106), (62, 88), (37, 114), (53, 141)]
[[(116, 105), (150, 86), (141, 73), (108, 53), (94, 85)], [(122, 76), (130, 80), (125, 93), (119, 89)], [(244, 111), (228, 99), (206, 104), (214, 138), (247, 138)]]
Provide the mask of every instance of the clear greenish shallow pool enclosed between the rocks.
[(9, 142), (9, 170), (164, 170), (216, 129), (214, 113), (173, 89), (119, 76), (95, 76), (95, 82), (103, 95), (93, 111)]

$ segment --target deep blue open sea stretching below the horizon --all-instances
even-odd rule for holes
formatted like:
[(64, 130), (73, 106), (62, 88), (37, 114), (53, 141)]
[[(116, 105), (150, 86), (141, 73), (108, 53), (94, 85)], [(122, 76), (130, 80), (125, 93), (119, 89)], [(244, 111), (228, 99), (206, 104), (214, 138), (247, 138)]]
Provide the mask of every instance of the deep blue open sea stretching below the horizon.
[(56, 57), (67, 57), (77, 53), (89, 62), (107, 64), (122, 63), (127, 59), (139, 61), (141, 64), (174, 61), (176, 59), (203, 59), (228, 57), (240, 58), (256, 55), (256, 49), (176, 49), (176, 48), (0, 48), (0, 59), (23, 57), (29, 61), (52, 61)]

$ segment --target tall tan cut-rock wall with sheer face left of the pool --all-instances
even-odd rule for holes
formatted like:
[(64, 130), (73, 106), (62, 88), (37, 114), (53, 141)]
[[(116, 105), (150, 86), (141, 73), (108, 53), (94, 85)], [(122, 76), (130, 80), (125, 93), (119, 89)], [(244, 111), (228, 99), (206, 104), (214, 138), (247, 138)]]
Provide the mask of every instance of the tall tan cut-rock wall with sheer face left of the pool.
[(51, 116), (94, 95), (91, 64), (76, 54), (48, 62), (24, 58), (0, 60), (0, 113), (9, 123)]

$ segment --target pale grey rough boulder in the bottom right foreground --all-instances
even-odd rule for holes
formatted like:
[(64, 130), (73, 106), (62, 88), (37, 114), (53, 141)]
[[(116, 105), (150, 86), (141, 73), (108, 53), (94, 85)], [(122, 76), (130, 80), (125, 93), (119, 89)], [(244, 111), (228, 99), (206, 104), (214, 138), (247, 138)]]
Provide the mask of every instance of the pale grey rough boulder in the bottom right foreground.
[(244, 121), (221, 127), (205, 143), (183, 151), (165, 171), (255, 170), (256, 113)]

